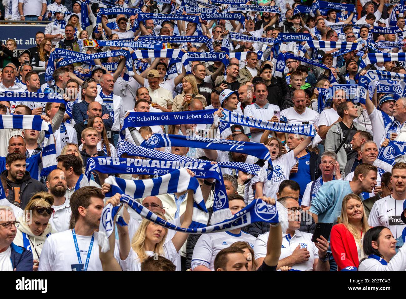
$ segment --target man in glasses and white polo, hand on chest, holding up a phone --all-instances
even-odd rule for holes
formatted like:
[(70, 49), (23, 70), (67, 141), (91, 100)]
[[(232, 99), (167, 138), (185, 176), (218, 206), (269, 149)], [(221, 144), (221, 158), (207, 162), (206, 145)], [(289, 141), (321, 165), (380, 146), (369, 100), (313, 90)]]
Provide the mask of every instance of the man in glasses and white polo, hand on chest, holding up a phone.
[[(311, 241), (312, 234), (299, 230), (302, 209), (293, 197), (278, 199), (288, 211), (289, 226), (282, 232), (281, 256), (277, 269), (282, 266), (292, 267), (298, 271), (328, 271), (330, 265), (324, 260), (328, 249), (328, 241), (320, 236), (317, 243)], [(266, 256), (268, 234), (259, 235), (255, 241), (255, 260), (261, 265)]]

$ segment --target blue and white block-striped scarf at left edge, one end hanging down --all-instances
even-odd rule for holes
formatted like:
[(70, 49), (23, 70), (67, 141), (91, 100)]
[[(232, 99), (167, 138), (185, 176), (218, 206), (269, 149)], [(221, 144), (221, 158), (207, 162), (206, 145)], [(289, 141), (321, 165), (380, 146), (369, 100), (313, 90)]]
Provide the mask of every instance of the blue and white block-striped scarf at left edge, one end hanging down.
[[(45, 122), (39, 115), (0, 115), (0, 129), (32, 129), (44, 131), (44, 143), (42, 150), (42, 166), (40, 176), (47, 176), (56, 169), (56, 148), (52, 126)], [(35, 174), (32, 174), (35, 175)]]

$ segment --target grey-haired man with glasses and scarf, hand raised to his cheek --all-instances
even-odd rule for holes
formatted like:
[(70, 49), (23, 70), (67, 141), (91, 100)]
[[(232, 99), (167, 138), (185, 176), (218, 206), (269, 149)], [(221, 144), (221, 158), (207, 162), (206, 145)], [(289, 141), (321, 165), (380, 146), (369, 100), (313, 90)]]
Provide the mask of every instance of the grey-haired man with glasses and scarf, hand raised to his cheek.
[(303, 210), (309, 210), (311, 201), (316, 197), (317, 191), (323, 183), (333, 179), (341, 179), (340, 166), (337, 162), (337, 155), (333, 151), (325, 151), (319, 164), (322, 175), (307, 184), (304, 190), (301, 207)]

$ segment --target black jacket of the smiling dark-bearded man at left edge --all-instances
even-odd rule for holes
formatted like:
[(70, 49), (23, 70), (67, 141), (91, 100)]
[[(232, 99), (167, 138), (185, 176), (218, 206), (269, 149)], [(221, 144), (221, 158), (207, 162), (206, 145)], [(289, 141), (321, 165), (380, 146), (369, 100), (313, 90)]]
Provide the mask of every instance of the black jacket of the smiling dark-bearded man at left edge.
[(23, 210), (28, 201), (30, 201), (32, 194), (47, 191), (47, 188), (40, 181), (32, 179), (28, 171), (26, 171), (21, 181), (16, 182), (7, 179), (7, 175), (9, 175), (8, 170), (4, 170), (1, 175), (7, 181), (7, 189), (9, 189), (8, 201), (17, 207), (21, 207)]

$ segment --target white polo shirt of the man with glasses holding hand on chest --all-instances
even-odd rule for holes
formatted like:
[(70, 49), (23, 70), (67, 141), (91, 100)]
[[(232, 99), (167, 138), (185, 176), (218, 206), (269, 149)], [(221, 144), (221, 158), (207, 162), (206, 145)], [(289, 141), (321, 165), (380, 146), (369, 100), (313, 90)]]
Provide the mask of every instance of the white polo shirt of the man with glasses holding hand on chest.
[[(255, 259), (265, 258), (266, 256), (266, 243), (268, 242), (269, 231), (265, 234), (259, 235), (257, 240), (255, 240), (254, 252)], [(300, 245), (300, 248), (307, 248), (310, 254), (310, 258), (306, 262), (300, 264), (294, 264), (292, 269), (300, 271), (313, 271), (313, 264), (316, 259), (319, 258), (319, 250), (311, 241), (313, 235), (309, 233), (304, 233), (302, 231), (295, 231), (293, 237), (283, 233), (282, 234), (282, 247), (281, 256), (279, 260), (282, 260), (289, 255), (292, 255), (293, 251)]]

